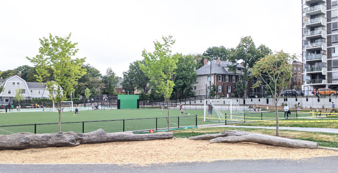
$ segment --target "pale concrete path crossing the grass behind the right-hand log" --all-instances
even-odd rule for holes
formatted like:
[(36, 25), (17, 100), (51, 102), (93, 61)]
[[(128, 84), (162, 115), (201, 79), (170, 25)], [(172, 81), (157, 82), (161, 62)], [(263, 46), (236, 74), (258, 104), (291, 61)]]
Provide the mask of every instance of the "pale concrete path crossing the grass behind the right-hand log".
[[(202, 126), (199, 125), (199, 128)], [(203, 127), (243, 127), (243, 128), (265, 128), (276, 129), (275, 126), (228, 126), (228, 125), (203, 125)], [(313, 128), (313, 127), (279, 127), (280, 130), (297, 130), (297, 131), (310, 131), (310, 132), (325, 132), (325, 133), (338, 133), (337, 128)]]

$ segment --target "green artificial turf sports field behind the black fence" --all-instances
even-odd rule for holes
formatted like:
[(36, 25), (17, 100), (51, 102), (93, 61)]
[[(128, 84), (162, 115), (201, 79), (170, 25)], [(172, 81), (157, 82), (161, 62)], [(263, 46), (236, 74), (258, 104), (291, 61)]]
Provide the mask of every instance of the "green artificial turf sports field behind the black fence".
[[(22, 110), (21, 112), (8, 112), (0, 113), (0, 134), (13, 134), (19, 132), (30, 133), (56, 133), (58, 132), (58, 125), (53, 124), (58, 122), (58, 112), (29, 112)], [(160, 109), (125, 109), (125, 110), (80, 110), (80, 113), (75, 114), (74, 111), (61, 112), (61, 131), (75, 131), (78, 133), (91, 132), (98, 128), (104, 129), (106, 132), (120, 132), (129, 130), (143, 130), (143, 129), (155, 129), (168, 127), (167, 116), (168, 110), (161, 111)], [(197, 115), (197, 124), (215, 124), (219, 122), (203, 122), (204, 110), (185, 110), (185, 117), (180, 117), (179, 110), (170, 110), (169, 125), (171, 127), (182, 126), (195, 126), (196, 118), (188, 117)], [(275, 112), (253, 113), (245, 111), (246, 121), (250, 120), (263, 120), (274, 119), (276, 117)], [(283, 112), (279, 113), (279, 117), (283, 118)], [(301, 113), (299, 117), (309, 117), (309, 113)], [(164, 117), (158, 118), (154, 117)], [(214, 116), (215, 117), (215, 116)], [(291, 113), (290, 118), (295, 118), (296, 113)], [(145, 119), (148, 118), (148, 119)], [(150, 119), (153, 118), (153, 119)], [(227, 116), (227, 119), (230, 117)], [(117, 121), (123, 120), (125, 121)], [(128, 120), (127, 120), (128, 119)], [(115, 120), (115, 121), (103, 121), (103, 120)], [(156, 122), (157, 121), (157, 122)], [(228, 121), (228, 120), (227, 120)], [(78, 123), (70, 123), (78, 122)], [(229, 121), (228, 121), (229, 122)], [(48, 125), (34, 125), (34, 124), (46, 124)], [(27, 125), (31, 126), (7, 126), (7, 125)], [(157, 125), (157, 126), (156, 126)], [(5, 126), (5, 127), (4, 127)]]

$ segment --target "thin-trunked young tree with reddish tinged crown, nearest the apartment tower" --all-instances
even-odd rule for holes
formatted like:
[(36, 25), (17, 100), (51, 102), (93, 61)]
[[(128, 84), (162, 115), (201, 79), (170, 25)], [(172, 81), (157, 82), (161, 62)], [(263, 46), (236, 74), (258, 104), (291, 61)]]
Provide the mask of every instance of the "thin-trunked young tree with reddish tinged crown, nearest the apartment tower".
[[(251, 69), (251, 76), (255, 78), (261, 77), (262, 79), (257, 80), (252, 88), (265, 86), (274, 98), (273, 102), (276, 106), (276, 136), (279, 136), (278, 102), (282, 94), (282, 92), (278, 94), (278, 89), (284, 90), (290, 79), (292, 79), (293, 65), (291, 62), (295, 59), (295, 56), (290, 56), (288, 53), (280, 51), (257, 61)], [(273, 87), (269, 85), (271, 82), (274, 84)]]

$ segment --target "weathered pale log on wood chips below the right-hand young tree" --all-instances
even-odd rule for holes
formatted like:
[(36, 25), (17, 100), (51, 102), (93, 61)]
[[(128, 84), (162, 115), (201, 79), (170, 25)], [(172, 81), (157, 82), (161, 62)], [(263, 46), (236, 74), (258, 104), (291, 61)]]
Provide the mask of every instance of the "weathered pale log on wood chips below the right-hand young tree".
[[(228, 142), (228, 143), (237, 143), (237, 142), (255, 142), (273, 146), (283, 146), (289, 148), (310, 148), (310, 149), (318, 149), (318, 142), (310, 142), (303, 140), (293, 140), (288, 138), (281, 138), (277, 136), (264, 135), (260, 133), (251, 133), (245, 132), (241, 130), (228, 130), (224, 131), (221, 135), (217, 136), (214, 139), (211, 139), (211, 143), (216, 142)], [(192, 140), (201, 140), (206, 138), (205, 135), (201, 135), (200, 137)], [(191, 139), (191, 138), (189, 138)]]

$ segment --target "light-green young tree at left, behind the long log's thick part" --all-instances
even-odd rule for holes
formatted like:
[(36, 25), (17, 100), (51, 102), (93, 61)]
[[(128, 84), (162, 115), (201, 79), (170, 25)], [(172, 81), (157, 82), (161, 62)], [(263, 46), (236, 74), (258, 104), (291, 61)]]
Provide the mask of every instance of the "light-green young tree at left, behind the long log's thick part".
[(40, 54), (33, 58), (26, 57), (31, 63), (35, 64), (38, 73), (35, 77), (38, 82), (43, 82), (45, 77), (53, 76), (54, 78), (54, 80), (46, 81), (45, 84), (49, 98), (52, 99), (56, 105), (56, 110), (58, 110), (59, 132), (61, 132), (62, 102), (72, 94), (71, 92), (74, 91), (78, 79), (86, 74), (86, 70), (81, 68), (86, 58), (72, 59), (78, 49), (75, 48), (77, 43), (72, 43), (70, 37), (71, 33), (66, 37), (53, 37), (52, 34), (49, 34), (48, 38), (39, 39), (41, 44)]

